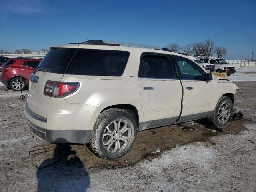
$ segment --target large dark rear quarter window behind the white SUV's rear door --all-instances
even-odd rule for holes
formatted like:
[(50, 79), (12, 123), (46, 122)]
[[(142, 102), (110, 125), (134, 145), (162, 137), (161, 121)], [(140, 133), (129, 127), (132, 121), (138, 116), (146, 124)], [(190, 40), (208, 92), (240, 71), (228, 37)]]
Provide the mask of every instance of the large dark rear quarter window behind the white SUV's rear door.
[(127, 51), (78, 49), (66, 74), (122, 76), (129, 55)]

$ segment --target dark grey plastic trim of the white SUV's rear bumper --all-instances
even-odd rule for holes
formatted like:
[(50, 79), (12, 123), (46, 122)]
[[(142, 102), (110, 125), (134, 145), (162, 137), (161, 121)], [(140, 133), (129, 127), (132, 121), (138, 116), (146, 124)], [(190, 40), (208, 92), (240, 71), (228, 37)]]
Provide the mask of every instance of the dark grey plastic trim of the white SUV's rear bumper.
[[(49, 130), (42, 127), (39, 127), (33, 124), (26, 116), (34, 118), (40, 122), (47, 122), (47, 119), (43, 121), (40, 120), (36, 114), (34, 114), (27, 106), (24, 107), (25, 112), (25, 121), (28, 124), (30, 130), (39, 136), (40, 138), (52, 142), (52, 143), (88, 143), (90, 140), (90, 133), (92, 130)], [(39, 116), (40, 117), (40, 116)]]

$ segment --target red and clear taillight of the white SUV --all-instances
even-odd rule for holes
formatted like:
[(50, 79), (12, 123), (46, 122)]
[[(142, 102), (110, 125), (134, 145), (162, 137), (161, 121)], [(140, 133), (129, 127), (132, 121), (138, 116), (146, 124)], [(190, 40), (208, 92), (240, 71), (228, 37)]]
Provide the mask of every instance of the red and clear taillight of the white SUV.
[(52, 97), (65, 97), (74, 92), (79, 88), (77, 82), (54, 82), (47, 81), (44, 86), (44, 95)]

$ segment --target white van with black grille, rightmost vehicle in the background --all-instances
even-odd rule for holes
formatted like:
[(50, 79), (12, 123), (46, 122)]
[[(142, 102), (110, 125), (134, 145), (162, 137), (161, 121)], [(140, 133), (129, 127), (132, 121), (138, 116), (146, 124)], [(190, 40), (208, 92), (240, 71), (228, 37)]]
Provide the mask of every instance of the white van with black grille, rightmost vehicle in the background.
[(220, 58), (200, 58), (204, 63), (210, 63), (215, 65), (216, 72), (227, 73), (227, 76), (234, 74), (236, 72), (233, 65), (228, 64), (224, 59)]

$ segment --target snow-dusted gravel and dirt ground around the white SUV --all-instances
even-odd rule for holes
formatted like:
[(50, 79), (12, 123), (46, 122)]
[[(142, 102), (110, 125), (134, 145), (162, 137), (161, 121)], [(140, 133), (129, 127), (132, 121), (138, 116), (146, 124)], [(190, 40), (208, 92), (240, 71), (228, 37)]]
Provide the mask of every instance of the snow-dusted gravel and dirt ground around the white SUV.
[(235, 84), (244, 120), (223, 132), (195, 122), (139, 132), (132, 150), (115, 161), (34, 136), (22, 116), (26, 100), (0, 87), (0, 191), (256, 191), (256, 85)]

